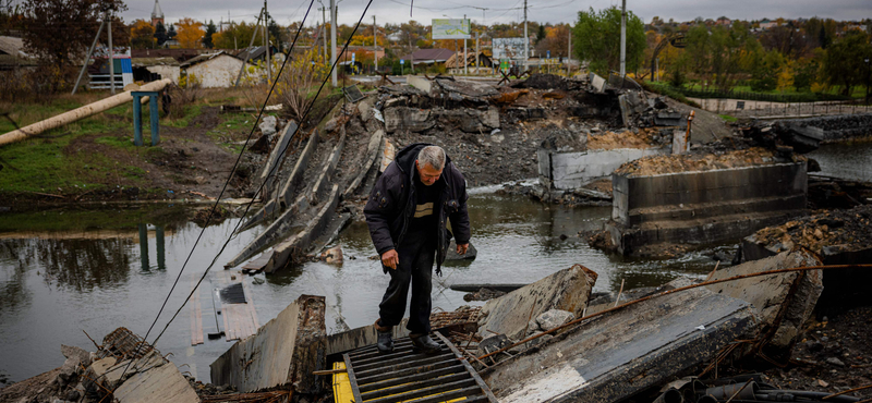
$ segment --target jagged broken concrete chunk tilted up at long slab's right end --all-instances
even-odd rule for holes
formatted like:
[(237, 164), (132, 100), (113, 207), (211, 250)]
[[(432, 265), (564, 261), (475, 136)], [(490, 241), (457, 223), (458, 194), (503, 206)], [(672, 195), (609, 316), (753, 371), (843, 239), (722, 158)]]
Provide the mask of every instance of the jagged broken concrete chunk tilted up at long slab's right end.
[[(785, 252), (777, 256), (717, 270), (712, 280), (820, 265), (821, 260), (809, 252)], [(802, 326), (811, 317), (818, 297), (821, 296), (823, 273), (821, 270), (794, 271), (706, 286), (718, 294), (750, 303), (761, 319), (760, 333), (768, 335), (768, 340), (761, 342), (767, 346), (766, 353), (789, 356)]]

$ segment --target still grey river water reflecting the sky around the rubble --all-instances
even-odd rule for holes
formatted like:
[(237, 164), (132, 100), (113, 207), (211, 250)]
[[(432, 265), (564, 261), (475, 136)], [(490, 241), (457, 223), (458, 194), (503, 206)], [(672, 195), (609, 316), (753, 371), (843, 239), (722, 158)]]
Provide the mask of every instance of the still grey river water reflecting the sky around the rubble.
[[(860, 151), (826, 146), (812, 157), (825, 174), (859, 172), (869, 180), (871, 151), (869, 146)], [(483, 190), (473, 192), (469, 211), (479, 256), (472, 262), (448, 265), (441, 278), (434, 277), (435, 309), (469, 304), (463, 293), (447, 288), (452, 283), (528, 283), (581, 264), (600, 274), (595, 291), (617, 291), (621, 281), (632, 289), (659, 285), (678, 276), (704, 277), (715, 265), (708, 255), (734, 249), (729, 244), (715, 245), (666, 260), (604, 254), (578, 234), (602, 228), (610, 207), (547, 206)], [(208, 227), (180, 276), (201, 233), (185, 217), (180, 206), (0, 215), (0, 386), (63, 364), (62, 343), (95, 350), (85, 332), (97, 342), (118, 327), (145, 335), (179, 278), (148, 337), (153, 342), (191, 292), (192, 277), (206, 271), (239, 222), (230, 219)], [(263, 229), (233, 237), (214, 270), (221, 270)], [(245, 277), (261, 325), (301, 294), (326, 296), (328, 332), (339, 328), (340, 319), (352, 328), (375, 321), (388, 277), (378, 260), (370, 259), (376, 252), (365, 223), (352, 223), (337, 244), (344, 251), (341, 267), (308, 262), (275, 276)], [(210, 276), (202, 289), (197, 296), (203, 328), (209, 332), (216, 328)], [(156, 346), (172, 353), (170, 359), (182, 371), (208, 381), (208, 365), (230, 345), (221, 338), (191, 346), (191, 317), (184, 307)]]

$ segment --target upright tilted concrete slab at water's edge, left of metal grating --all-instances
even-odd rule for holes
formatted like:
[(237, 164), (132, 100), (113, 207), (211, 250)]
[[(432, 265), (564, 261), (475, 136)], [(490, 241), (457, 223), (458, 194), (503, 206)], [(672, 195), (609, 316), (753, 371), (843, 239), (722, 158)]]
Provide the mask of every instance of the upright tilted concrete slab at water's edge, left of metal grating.
[(326, 335), (323, 296), (301, 295), (257, 333), (238, 341), (209, 368), (211, 382), (232, 384), (240, 392), (292, 384), (314, 387), (318, 340)]

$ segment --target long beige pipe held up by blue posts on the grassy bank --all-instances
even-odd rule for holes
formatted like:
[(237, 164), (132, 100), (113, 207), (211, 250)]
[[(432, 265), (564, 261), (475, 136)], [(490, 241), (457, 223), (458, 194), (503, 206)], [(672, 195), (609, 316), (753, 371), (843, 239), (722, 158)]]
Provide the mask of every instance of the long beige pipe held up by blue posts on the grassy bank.
[[(172, 84), (172, 80), (164, 78), (161, 81), (156, 81), (156, 82), (143, 85), (142, 87), (140, 87), (138, 90), (141, 90), (141, 91), (161, 90), (161, 89), (164, 89), (164, 87), (166, 87), (167, 85), (170, 85), (170, 84)], [(113, 96), (111, 96), (109, 98), (106, 98), (106, 99), (102, 99), (102, 100), (98, 100), (98, 101), (93, 102), (93, 103), (88, 103), (88, 105), (86, 105), (84, 107), (73, 109), (73, 110), (71, 110), (69, 112), (61, 113), (61, 114), (59, 114), (57, 117), (52, 117), (52, 118), (46, 119), (44, 121), (39, 121), (39, 122), (34, 123), (34, 124), (31, 124), (28, 126), (25, 126), (25, 127), (22, 127), (22, 129), (19, 129), (19, 130), (14, 130), (12, 132), (3, 134), (2, 136), (0, 136), (0, 146), (7, 145), (7, 144), (16, 143), (16, 142), (21, 142), (21, 141), (29, 137), (29, 136), (37, 135), (39, 133), (43, 133), (45, 131), (49, 131), (49, 130), (52, 130), (52, 129), (58, 129), (58, 127), (63, 126), (65, 124), (73, 123), (75, 121), (85, 119), (87, 117), (97, 114), (99, 112), (112, 109), (112, 108), (118, 107), (120, 105), (130, 102), (132, 100), (133, 100), (133, 95), (131, 95), (131, 91), (124, 91), (124, 93), (121, 93), (121, 94), (118, 94), (118, 95), (113, 95)]]

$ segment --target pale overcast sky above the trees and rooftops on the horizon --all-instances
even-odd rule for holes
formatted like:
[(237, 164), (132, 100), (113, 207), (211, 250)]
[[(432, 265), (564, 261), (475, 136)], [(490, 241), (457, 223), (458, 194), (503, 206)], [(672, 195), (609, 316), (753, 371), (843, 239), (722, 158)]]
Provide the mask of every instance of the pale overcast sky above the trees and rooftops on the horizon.
[[(254, 21), (263, 5), (259, 1), (246, 0), (159, 0), (168, 23), (190, 16), (199, 21), (228, 19), (233, 21)], [(329, 4), (328, 0), (322, 0)], [(460, 19), (464, 14), (476, 23), (523, 21), (523, 0), (414, 0), (412, 15), (409, 15), (410, 0), (373, 0), (366, 12), (365, 24), (373, 23), (376, 16), (379, 25), (402, 23), (415, 20), (425, 25), (431, 19), (443, 19), (444, 15)], [(342, 0), (338, 3), (340, 24), (356, 23), (366, 7), (366, 0)], [(136, 19), (149, 19), (154, 0), (126, 0), (129, 10), (122, 15), (126, 22)], [(271, 0), (268, 9), (272, 17), (282, 25), (300, 21), (308, 7), (308, 0)], [(469, 4), (469, 5), (465, 5)], [(530, 21), (569, 23), (577, 19), (579, 10), (595, 10), (620, 7), (619, 0), (529, 0), (528, 17)], [(312, 8), (306, 25), (320, 21), (322, 12), (318, 0)], [(477, 8), (477, 9), (476, 9)], [(488, 10), (481, 10), (482, 8)], [(653, 16), (668, 21), (689, 21), (697, 16), (717, 19), (726, 15), (730, 19), (760, 20), (763, 17), (832, 17), (835, 20), (853, 20), (872, 17), (872, 0), (630, 0), (627, 8), (650, 22)], [(483, 14), (484, 13), (484, 14)], [(327, 16), (329, 20), (329, 15)]]

